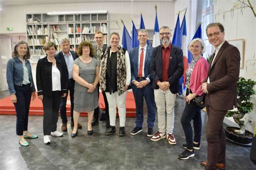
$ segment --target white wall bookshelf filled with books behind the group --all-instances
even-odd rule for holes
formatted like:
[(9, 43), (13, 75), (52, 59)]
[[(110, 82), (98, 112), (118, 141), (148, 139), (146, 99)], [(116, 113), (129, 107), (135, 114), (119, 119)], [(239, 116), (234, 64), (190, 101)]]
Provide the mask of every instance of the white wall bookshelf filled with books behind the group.
[[(96, 31), (102, 31), (104, 44), (109, 42), (108, 13), (88, 11), (85, 14), (48, 15), (47, 13), (26, 14), (26, 40), (29, 44), (33, 62), (41, 56), (45, 56), (43, 46), (52, 41), (60, 51), (59, 42), (61, 38), (68, 38), (70, 48), (76, 51), (80, 42), (86, 40), (93, 45)], [(36, 60), (36, 58), (38, 58)]]

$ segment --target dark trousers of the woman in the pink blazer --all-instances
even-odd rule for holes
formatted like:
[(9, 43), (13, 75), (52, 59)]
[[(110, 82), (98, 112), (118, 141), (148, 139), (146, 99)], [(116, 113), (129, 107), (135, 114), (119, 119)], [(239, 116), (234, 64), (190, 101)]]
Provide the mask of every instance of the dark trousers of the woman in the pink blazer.
[[(188, 94), (189, 92), (187, 91), (186, 96)], [(193, 131), (191, 127), (192, 120), (193, 120), (193, 126), (194, 126), (194, 141), (199, 143), (201, 140), (201, 130), (202, 130), (201, 110), (196, 105), (196, 103), (194, 103), (193, 101), (190, 101), (190, 104), (186, 102), (186, 106), (184, 108), (183, 114), (180, 119), (181, 125), (185, 133), (188, 150), (193, 149)]]

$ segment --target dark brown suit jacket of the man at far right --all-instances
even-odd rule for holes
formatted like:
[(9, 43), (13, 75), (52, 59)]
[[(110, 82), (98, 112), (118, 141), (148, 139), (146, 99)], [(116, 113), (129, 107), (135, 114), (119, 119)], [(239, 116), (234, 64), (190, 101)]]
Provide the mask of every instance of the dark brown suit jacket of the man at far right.
[[(237, 47), (228, 44), (221, 46), (216, 58), (210, 63), (207, 84), (206, 104), (217, 110), (231, 110), (237, 107), (237, 81), (240, 71), (240, 53)], [(210, 100), (210, 101), (208, 101)]]

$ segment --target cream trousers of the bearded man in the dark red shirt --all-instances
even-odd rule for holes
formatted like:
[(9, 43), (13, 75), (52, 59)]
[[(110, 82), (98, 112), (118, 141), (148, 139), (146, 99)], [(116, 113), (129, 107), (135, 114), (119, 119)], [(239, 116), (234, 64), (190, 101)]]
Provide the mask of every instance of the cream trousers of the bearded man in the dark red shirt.
[[(154, 89), (154, 101), (157, 105), (158, 130), (162, 133), (173, 133), (174, 128), (174, 105), (176, 94), (170, 89), (165, 91)], [(165, 118), (166, 111), (166, 118)]]

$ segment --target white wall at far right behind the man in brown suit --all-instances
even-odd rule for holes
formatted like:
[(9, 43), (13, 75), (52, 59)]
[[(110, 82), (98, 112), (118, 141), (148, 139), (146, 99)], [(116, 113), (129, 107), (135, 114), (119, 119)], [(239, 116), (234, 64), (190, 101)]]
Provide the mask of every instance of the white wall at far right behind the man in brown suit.
[[(214, 4), (214, 14), (217, 14), (219, 11), (230, 10), (234, 3), (234, 0), (217, 1), (217, 3)], [(251, 3), (253, 6), (256, 6), (256, 1), (251, 1)], [(250, 65), (250, 63), (247, 62), (248, 60), (253, 59), (256, 48), (256, 18), (254, 17), (252, 10), (250, 8), (246, 8), (242, 11), (242, 13), (241, 10), (235, 10), (233, 13), (227, 12), (225, 17), (223, 17), (223, 14), (215, 15), (215, 21), (224, 25), (226, 40), (245, 40), (244, 69), (240, 69), (240, 76), (245, 77), (245, 79), (252, 79), (256, 81), (256, 65)], [(255, 107), (256, 95), (253, 96), (252, 102), (254, 103)], [(256, 122), (256, 108), (254, 108), (251, 114), (247, 115), (247, 117)], [(229, 120), (233, 121), (232, 118), (229, 118)], [(228, 123), (227, 119), (225, 121)], [(248, 130), (253, 132), (254, 126), (252, 124), (247, 124), (247, 126)]]

